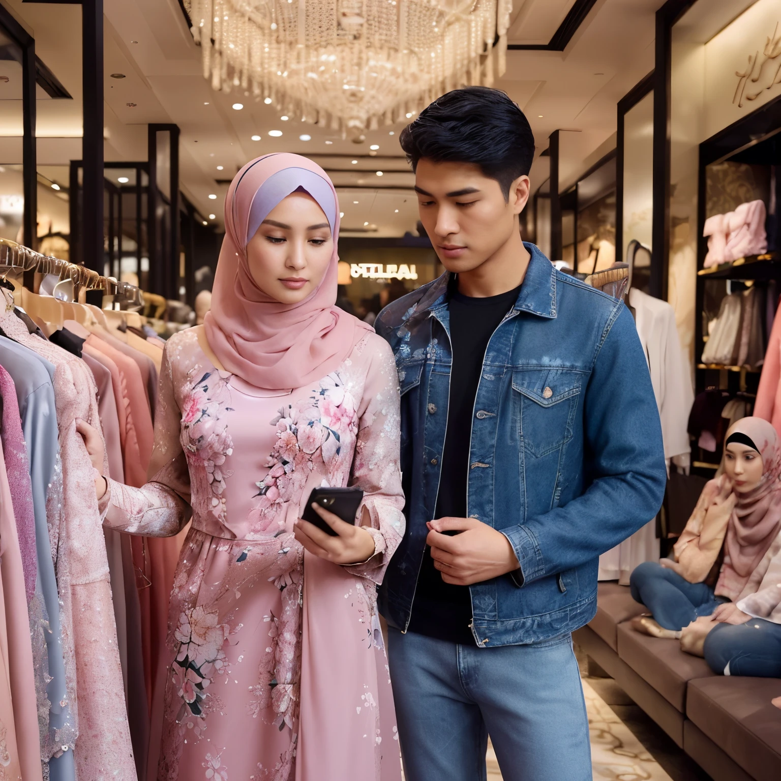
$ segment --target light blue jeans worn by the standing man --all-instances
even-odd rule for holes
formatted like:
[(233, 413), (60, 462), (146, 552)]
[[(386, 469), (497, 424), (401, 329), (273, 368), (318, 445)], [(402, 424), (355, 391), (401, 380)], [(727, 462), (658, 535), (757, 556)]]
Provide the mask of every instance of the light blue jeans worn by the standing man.
[(406, 781), (485, 781), (489, 735), (505, 781), (590, 781), (569, 633), (479, 648), (388, 631)]

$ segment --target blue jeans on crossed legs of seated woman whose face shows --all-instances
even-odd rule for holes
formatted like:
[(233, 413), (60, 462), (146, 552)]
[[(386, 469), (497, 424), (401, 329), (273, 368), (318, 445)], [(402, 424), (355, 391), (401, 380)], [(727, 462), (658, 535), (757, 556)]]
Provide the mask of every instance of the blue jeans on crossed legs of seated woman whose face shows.
[(632, 598), (644, 604), (659, 626), (683, 629), (700, 615), (711, 615), (722, 599), (704, 583), (689, 583), (657, 562), (643, 562), (629, 576)]

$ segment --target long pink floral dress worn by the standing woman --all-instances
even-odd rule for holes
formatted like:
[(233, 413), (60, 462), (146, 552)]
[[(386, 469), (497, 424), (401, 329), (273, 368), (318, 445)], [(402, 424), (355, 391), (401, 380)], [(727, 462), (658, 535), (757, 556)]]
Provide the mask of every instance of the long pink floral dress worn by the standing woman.
[[(192, 515), (155, 692), (160, 781), (400, 779), (375, 596), (404, 532), (398, 447), (398, 377), (373, 333), (276, 394), (217, 370), (194, 332), (166, 344), (152, 480), (109, 481), (102, 500), (127, 533), (166, 537)], [(321, 485), (363, 489), (367, 562), (333, 565), (294, 539)]]

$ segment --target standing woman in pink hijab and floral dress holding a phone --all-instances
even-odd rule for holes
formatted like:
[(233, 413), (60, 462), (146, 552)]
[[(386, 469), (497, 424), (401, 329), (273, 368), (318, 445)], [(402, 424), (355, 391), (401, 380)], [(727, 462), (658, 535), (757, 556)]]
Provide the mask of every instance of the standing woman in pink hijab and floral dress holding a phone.
[[(148, 778), (396, 781), (375, 597), (405, 524), (394, 357), (334, 306), (323, 169), (249, 162), (225, 225), (204, 326), (166, 344), (150, 482), (105, 479), (80, 424), (107, 526), (165, 537), (192, 517)], [(319, 507), (335, 536), (301, 520), (313, 487), (348, 485), (364, 492), (355, 525)]]

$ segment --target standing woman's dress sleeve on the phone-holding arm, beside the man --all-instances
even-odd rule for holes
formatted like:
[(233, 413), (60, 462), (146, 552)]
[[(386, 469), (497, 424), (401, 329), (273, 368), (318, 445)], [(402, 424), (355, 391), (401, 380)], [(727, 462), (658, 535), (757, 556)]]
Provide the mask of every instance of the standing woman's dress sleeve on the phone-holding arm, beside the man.
[(386, 341), (373, 334), (366, 344), (371, 364), (366, 376), (350, 484), (363, 489), (363, 506), (374, 537), (374, 554), (349, 572), (382, 583), (385, 569), (404, 535), (404, 492), (399, 469), (398, 373)]

